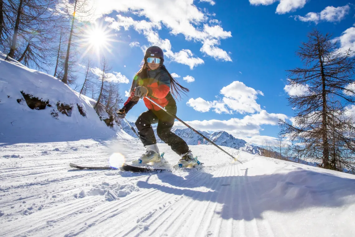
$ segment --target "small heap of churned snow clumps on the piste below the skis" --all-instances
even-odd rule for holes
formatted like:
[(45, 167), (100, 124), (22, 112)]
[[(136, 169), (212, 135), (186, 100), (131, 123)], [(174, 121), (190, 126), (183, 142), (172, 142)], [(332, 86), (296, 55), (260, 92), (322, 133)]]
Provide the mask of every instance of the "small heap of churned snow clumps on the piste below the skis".
[(133, 191), (138, 191), (136, 185), (133, 184), (109, 184), (107, 182), (102, 182), (101, 184), (93, 185), (90, 191), (85, 192), (82, 190), (79, 194), (75, 194), (76, 198), (83, 198), (85, 196), (95, 196), (95, 195), (103, 195), (105, 196), (105, 200), (113, 201), (118, 200), (121, 197), (127, 196)]

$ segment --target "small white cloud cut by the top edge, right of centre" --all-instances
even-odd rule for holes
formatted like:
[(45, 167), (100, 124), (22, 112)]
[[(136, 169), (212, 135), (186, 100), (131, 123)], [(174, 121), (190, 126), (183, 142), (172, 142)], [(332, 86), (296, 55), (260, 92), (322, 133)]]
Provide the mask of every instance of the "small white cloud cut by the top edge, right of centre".
[(280, 2), (277, 5), (276, 13), (285, 14), (296, 9), (303, 8), (306, 4), (306, 0), (249, 0), (251, 5), (271, 5), (275, 2)]

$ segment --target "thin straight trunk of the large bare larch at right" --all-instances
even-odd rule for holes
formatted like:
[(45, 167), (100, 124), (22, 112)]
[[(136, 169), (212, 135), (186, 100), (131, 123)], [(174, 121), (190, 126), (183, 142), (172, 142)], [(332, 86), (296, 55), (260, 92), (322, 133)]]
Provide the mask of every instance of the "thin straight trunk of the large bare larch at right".
[(322, 76), (322, 139), (323, 139), (323, 165), (324, 168), (329, 168), (329, 144), (328, 144), (328, 136), (327, 136), (327, 92), (326, 92), (326, 76), (324, 75), (323, 61), (320, 48), (320, 42), (318, 39), (318, 57), (319, 63), (321, 67), (321, 76)]

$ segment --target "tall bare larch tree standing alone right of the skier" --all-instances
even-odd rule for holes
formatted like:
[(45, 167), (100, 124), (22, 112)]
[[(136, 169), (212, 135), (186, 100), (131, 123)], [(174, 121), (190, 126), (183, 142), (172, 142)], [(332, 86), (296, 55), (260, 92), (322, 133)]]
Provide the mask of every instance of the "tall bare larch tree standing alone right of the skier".
[(288, 70), (289, 84), (307, 90), (288, 98), (295, 117), (293, 124), (280, 120), (280, 135), (301, 144), (300, 155), (320, 160), (321, 167), (353, 172), (355, 128), (348, 110), (355, 102), (354, 52), (315, 29), (296, 55), (304, 68)]

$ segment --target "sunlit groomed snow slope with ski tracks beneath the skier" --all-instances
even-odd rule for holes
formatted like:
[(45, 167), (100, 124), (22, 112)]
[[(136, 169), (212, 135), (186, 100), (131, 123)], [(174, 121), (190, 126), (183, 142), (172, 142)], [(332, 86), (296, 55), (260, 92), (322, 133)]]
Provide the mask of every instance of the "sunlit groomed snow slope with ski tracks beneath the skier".
[(137, 139), (2, 144), (0, 236), (355, 236), (354, 176), (191, 150), (204, 169), (148, 174), (69, 167), (108, 165), (119, 151), (130, 163), (144, 152)]

